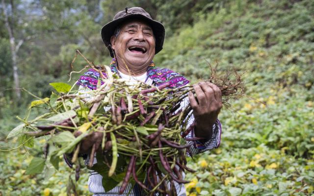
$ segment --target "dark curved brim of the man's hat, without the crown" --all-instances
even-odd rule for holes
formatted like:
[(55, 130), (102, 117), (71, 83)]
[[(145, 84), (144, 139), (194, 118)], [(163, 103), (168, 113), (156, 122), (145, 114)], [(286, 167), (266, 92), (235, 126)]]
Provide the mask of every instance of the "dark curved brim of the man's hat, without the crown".
[(123, 22), (125, 22), (127, 20), (131, 20), (131, 19), (144, 21), (152, 27), (153, 32), (154, 32), (154, 36), (155, 36), (155, 40), (156, 40), (155, 54), (157, 54), (162, 49), (162, 45), (163, 45), (163, 41), (164, 41), (164, 37), (165, 37), (164, 26), (161, 23), (159, 23), (158, 21), (150, 19), (150, 18), (148, 18), (142, 14), (130, 13), (124, 17), (118, 18), (116, 20), (113, 20), (113, 21), (107, 23), (102, 28), (102, 31), (101, 31), (102, 39), (103, 39), (103, 42), (105, 43), (105, 46), (109, 49), (110, 56), (113, 57), (113, 51), (110, 47), (111, 46), (110, 38), (113, 35), (114, 30), (116, 29), (116, 27), (118, 25), (122, 24)]

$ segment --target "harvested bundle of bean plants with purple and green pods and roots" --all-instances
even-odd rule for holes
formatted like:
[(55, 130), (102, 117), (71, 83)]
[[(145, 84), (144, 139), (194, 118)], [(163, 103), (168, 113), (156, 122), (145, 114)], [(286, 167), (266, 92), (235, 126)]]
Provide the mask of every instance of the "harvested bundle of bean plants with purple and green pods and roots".
[[(7, 136), (18, 137), (25, 147), (34, 147), (34, 138), (48, 136), (47, 142), (41, 144), (43, 156), (34, 157), (25, 173), (49, 172), (44, 171), (48, 164), (59, 170), (64, 156), (75, 170), (76, 181), (80, 168), (86, 165), (103, 176), (105, 191), (120, 184), (122, 194), (129, 183), (137, 183), (147, 194), (176, 195), (175, 183), (189, 183), (182, 172), (196, 172), (186, 166), (186, 154), (192, 155), (189, 147), (193, 141), (204, 139), (186, 138), (195, 123), (188, 124), (192, 108), (182, 108), (181, 102), (187, 99), (188, 92), (195, 93), (193, 86), (131, 83), (112, 73), (108, 66), (94, 66), (78, 50), (77, 54), (86, 60), (87, 67), (100, 73), (97, 89), (74, 90), (75, 84), (50, 83), (56, 93), (30, 103), (26, 118), (20, 119), (23, 123)], [(76, 58), (77, 55), (74, 61)], [(219, 76), (216, 67), (209, 68), (211, 74), (206, 81), (220, 88), (224, 104), (243, 94), (241, 76), (236, 71)], [(29, 120), (34, 107), (48, 112)], [(84, 155), (88, 156), (84, 163), (81, 142), (92, 134), (98, 139), (93, 141), (91, 152)], [(71, 191), (76, 194), (70, 177), (68, 192)]]

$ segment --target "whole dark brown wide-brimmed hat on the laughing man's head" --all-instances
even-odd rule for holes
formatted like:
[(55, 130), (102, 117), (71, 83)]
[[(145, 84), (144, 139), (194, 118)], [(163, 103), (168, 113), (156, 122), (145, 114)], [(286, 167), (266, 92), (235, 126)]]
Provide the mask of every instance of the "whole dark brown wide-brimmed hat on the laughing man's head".
[(105, 46), (109, 49), (111, 57), (113, 57), (113, 50), (111, 49), (110, 38), (113, 35), (114, 30), (123, 22), (133, 19), (144, 21), (153, 29), (153, 33), (155, 36), (155, 54), (157, 54), (162, 49), (163, 41), (165, 38), (165, 27), (158, 21), (153, 20), (151, 15), (147, 13), (143, 8), (132, 7), (129, 9), (126, 8), (125, 10), (118, 12), (113, 17), (113, 20), (107, 23), (102, 28), (102, 39), (105, 43)]

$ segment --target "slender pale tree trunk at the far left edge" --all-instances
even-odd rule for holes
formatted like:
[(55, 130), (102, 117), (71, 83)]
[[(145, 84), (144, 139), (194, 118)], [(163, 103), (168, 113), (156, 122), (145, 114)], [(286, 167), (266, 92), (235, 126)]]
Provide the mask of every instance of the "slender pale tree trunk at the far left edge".
[(10, 38), (10, 48), (11, 48), (11, 56), (12, 56), (12, 68), (13, 68), (13, 79), (14, 79), (14, 89), (15, 89), (15, 94), (16, 98), (20, 99), (21, 98), (21, 89), (20, 89), (20, 81), (19, 81), (19, 74), (18, 74), (18, 65), (17, 65), (17, 51), (18, 48), (16, 47), (15, 44), (15, 38), (12, 32), (12, 28), (9, 24), (8, 20), (8, 13), (6, 11), (5, 3), (4, 0), (2, 0), (2, 9), (4, 13), (4, 20), (5, 20), (5, 26), (8, 30), (9, 33), (9, 38)]

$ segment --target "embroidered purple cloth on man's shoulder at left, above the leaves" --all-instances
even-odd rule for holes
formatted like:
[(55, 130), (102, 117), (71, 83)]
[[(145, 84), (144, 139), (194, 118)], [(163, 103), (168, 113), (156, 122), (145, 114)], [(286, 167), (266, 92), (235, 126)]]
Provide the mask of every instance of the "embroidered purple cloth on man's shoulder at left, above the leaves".
[[(106, 77), (106, 74), (105, 73), (103, 74)], [(97, 88), (99, 78), (100, 73), (96, 70), (90, 69), (78, 78), (77, 85), (95, 90)], [(102, 81), (101, 84), (103, 84)]]

